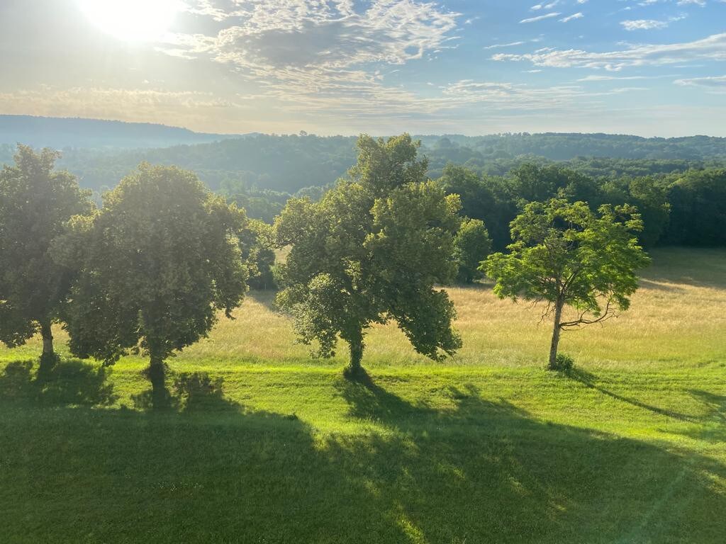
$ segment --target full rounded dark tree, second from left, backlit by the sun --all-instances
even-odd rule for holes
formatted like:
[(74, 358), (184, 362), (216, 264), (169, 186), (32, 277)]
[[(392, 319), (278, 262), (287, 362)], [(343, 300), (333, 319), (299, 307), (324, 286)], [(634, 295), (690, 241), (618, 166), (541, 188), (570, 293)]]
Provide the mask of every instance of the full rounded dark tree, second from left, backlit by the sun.
[(163, 400), (166, 359), (245, 294), (244, 226), (244, 213), (193, 173), (139, 166), (57, 245), (57, 257), (78, 267), (66, 318), (71, 352), (107, 363), (129, 350), (148, 355), (153, 399)]

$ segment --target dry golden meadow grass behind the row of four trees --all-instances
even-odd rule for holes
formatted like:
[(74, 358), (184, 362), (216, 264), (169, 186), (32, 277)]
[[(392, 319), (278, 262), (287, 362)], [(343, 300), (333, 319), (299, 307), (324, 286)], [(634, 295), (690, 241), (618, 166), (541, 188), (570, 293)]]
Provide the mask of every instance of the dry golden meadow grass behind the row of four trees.
[[(550, 321), (540, 323), (540, 308), (528, 302), (498, 300), (491, 286), (449, 289), (457, 307), (457, 329), (464, 347), (444, 366), (541, 366), (550, 341)], [(274, 295), (250, 293), (234, 312), (221, 318), (210, 336), (174, 360), (204, 366), (265, 365), (342, 366), (346, 346), (333, 360), (315, 360), (296, 345), (290, 320), (274, 310)], [(63, 349), (65, 335), (57, 331)], [(395, 323), (375, 326), (366, 339), (364, 364), (428, 366)], [(665, 368), (705, 366), (726, 361), (726, 251), (668, 249), (653, 252), (630, 310), (603, 325), (569, 331), (560, 349), (589, 368), (637, 366)], [(17, 358), (38, 350), (37, 340), (20, 353), (0, 350), (0, 358)], [(140, 362), (140, 361), (139, 361)]]

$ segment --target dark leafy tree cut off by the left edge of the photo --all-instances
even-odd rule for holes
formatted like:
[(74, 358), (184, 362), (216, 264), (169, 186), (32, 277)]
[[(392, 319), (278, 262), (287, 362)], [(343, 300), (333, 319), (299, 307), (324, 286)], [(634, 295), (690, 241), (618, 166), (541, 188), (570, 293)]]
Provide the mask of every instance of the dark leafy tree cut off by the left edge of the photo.
[(71, 216), (89, 213), (90, 191), (54, 170), (60, 155), (19, 145), (15, 165), (0, 171), (0, 341), (23, 345), (38, 331), (41, 366), (54, 360), (52, 323), (70, 286), (70, 270), (49, 254)]

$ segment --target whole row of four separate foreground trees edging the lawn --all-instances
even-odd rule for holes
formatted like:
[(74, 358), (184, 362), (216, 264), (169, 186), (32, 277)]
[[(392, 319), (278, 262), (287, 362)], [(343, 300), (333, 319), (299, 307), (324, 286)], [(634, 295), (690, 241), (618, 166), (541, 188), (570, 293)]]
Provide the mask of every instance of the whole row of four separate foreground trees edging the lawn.
[[(143, 354), (161, 404), (168, 358), (221, 314), (232, 318), (248, 287), (272, 281), (301, 342), (322, 357), (347, 344), (348, 376), (362, 372), (375, 323), (396, 323), (433, 360), (455, 353), (462, 338), (442, 286), (457, 277), (486, 274), (499, 297), (544, 303), (549, 368), (558, 368), (560, 331), (627, 309), (649, 262), (635, 206), (537, 192), (551, 176), (531, 170), (521, 179), (541, 199), (515, 210), (511, 243), (490, 255), (488, 226), (462, 217), (467, 191), (431, 181), (419, 147), (407, 134), (361, 136), (346, 176), (318, 199), (287, 200), (269, 225), (194, 173), (147, 162), (96, 207), (74, 176), (55, 169), (57, 152), (19, 146), (0, 172), (0, 340), (12, 347), (41, 334), (41, 374), (57, 358), (52, 323), (62, 323), (78, 357), (111, 364)], [(282, 247), (287, 259), (275, 264)]]

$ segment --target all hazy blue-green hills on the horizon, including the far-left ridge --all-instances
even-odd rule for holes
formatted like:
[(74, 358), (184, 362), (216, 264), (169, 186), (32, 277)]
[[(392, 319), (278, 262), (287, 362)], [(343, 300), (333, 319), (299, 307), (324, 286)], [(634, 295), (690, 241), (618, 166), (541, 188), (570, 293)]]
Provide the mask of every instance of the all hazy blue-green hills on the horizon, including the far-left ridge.
[[(523, 162), (567, 162), (595, 177), (665, 175), (726, 163), (726, 138), (710, 136), (505, 133), (415, 138), (423, 142), (431, 178), (439, 178), (449, 162), (490, 176), (505, 175)], [(115, 186), (147, 161), (193, 170), (213, 190), (246, 187), (293, 194), (334, 183), (356, 161), (355, 136), (232, 136), (148, 123), (0, 115), (0, 164), (12, 161), (15, 142), (62, 149), (58, 166), (97, 191)]]

